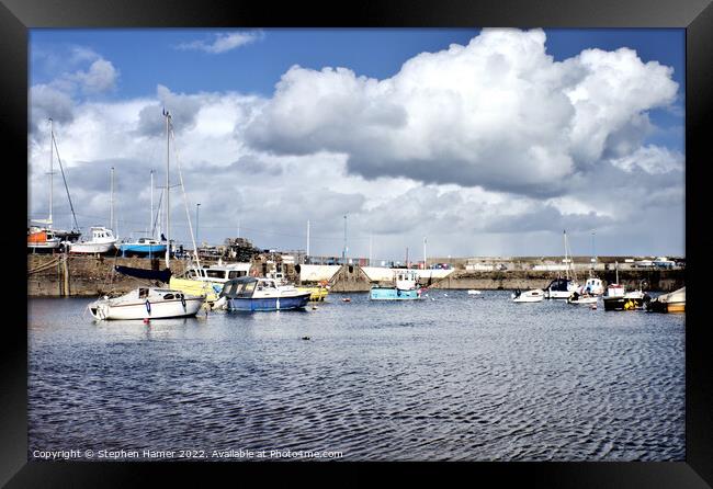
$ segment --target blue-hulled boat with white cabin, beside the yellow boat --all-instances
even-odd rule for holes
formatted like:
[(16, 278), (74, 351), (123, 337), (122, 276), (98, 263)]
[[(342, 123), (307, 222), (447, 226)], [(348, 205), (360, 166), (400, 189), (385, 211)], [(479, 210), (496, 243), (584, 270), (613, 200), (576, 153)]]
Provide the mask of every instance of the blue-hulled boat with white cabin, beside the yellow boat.
[(309, 293), (280, 285), (274, 278), (241, 276), (223, 285), (219, 299), (223, 298), (228, 310), (286, 310), (304, 308)]

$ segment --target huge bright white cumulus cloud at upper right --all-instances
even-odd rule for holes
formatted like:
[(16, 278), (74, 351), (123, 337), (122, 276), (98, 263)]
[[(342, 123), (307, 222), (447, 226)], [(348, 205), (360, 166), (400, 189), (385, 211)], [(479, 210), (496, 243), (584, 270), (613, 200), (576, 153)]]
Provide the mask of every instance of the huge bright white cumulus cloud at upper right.
[(384, 80), (294, 66), (247, 140), (275, 153), (344, 153), (367, 179), (562, 193), (563, 179), (641, 147), (647, 111), (674, 102), (678, 84), (671, 68), (627, 48), (557, 62), (545, 41), (541, 30), (484, 30)]

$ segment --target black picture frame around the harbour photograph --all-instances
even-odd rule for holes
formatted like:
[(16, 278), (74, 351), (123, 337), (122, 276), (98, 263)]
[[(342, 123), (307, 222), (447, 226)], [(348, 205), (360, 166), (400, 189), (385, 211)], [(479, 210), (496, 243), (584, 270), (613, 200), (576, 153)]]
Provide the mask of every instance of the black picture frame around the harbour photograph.
[[(686, 68), (686, 254), (688, 306), (686, 321), (686, 462), (682, 463), (473, 463), (380, 464), (397, 476), (440, 480), (443, 470), (457, 471), (467, 481), (490, 480), (494, 485), (524, 482), (545, 487), (659, 487), (704, 488), (713, 485), (713, 402), (709, 352), (711, 328), (703, 309), (703, 261), (711, 248), (703, 205), (705, 166), (711, 161), (710, 137), (713, 114), (713, 5), (711, 0), (686, 1), (467, 1), (392, 0), (382, 2), (257, 2), (244, 0), (2, 0), (0, 3), (0, 120), (10, 144), (3, 150), (5, 168), (14, 168), (27, 156), (27, 30), (34, 27), (684, 27)], [(8, 152), (8, 149), (10, 151)], [(12, 158), (9, 156), (12, 155)], [(20, 178), (20, 177), (18, 177)], [(12, 184), (9, 186), (13, 186)], [(12, 189), (16, 195), (16, 189)], [(19, 190), (22, 197), (22, 186)], [(26, 192), (26, 187), (25, 187)], [(26, 194), (24, 194), (26, 197)], [(16, 196), (14, 197), (16, 202)], [(25, 198), (26, 202), (26, 198)], [(20, 257), (20, 230), (26, 216), (13, 214), (12, 246), (8, 253)], [(22, 220), (23, 224), (20, 223)], [(16, 234), (14, 232), (16, 231)], [(18, 269), (22, 269), (20, 260)], [(16, 271), (20, 277), (26, 270)], [(13, 275), (14, 276), (14, 275)], [(191, 463), (82, 463), (27, 462), (26, 309), (20, 306), (23, 288), (10, 287), (5, 299), (15, 304), (18, 317), (4, 321), (2, 401), (0, 403), (0, 482), (8, 487), (126, 487), (161, 482), (169, 475), (204, 477), (215, 471), (242, 478), (284, 475), (333, 476), (347, 470), (355, 482), (367, 477), (374, 464), (191, 464)], [(26, 289), (25, 296), (26, 296)], [(26, 298), (26, 297), (25, 297)], [(253, 474), (256, 475), (256, 474)], [(487, 479), (484, 479), (487, 478)], [(184, 481), (188, 479), (184, 479)], [(233, 479), (240, 481), (239, 479)], [(339, 484), (343, 479), (332, 479)], [(265, 479), (263, 479), (263, 482)], [(261, 482), (261, 484), (263, 484)], [(307, 482), (309, 482), (307, 480)]]

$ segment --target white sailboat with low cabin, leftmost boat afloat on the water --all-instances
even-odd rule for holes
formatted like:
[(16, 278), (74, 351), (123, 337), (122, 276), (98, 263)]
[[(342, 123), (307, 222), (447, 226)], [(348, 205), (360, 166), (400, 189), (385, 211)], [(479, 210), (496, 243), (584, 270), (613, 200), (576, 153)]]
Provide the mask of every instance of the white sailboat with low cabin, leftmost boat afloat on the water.
[(88, 306), (94, 319), (168, 319), (195, 316), (204, 295), (158, 287), (138, 287), (120, 297), (102, 297)]

